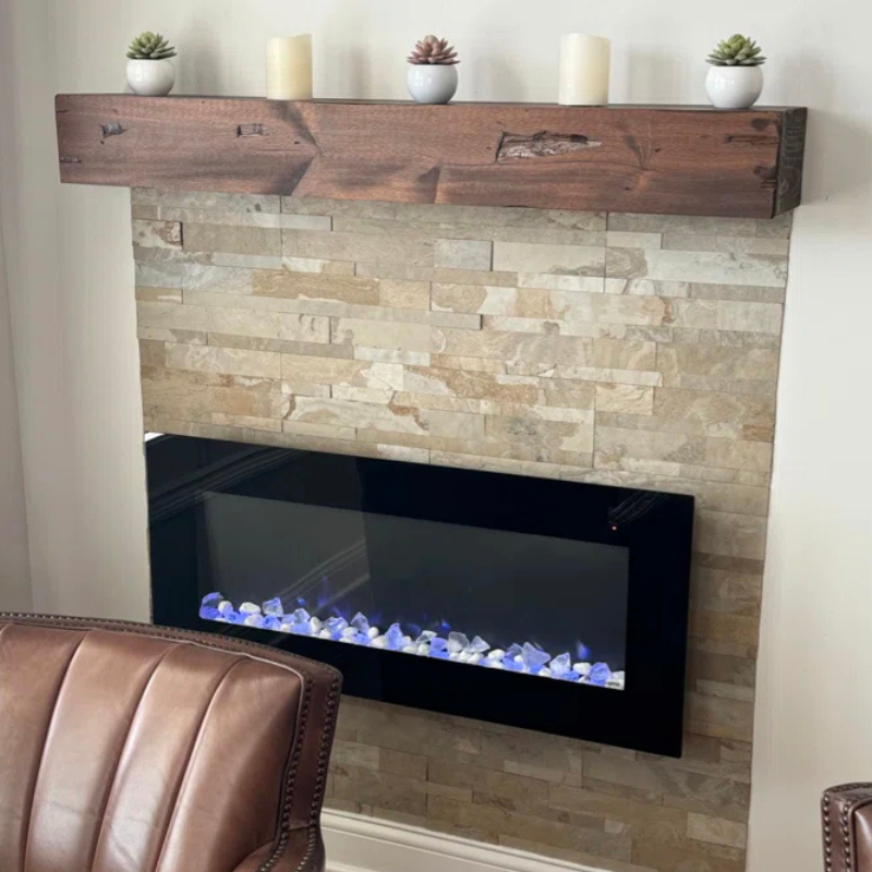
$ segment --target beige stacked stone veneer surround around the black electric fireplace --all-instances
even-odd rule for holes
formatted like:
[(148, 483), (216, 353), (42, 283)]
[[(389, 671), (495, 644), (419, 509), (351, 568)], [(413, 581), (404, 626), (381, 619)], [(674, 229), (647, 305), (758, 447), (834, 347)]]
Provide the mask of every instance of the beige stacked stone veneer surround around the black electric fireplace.
[(698, 500), (681, 760), (347, 699), (328, 806), (743, 869), (789, 229), (134, 191), (147, 429)]

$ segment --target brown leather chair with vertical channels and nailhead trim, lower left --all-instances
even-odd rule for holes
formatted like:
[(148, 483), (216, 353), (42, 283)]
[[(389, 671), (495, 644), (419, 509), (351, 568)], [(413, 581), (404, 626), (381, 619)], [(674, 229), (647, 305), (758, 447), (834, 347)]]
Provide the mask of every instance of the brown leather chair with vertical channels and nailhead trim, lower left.
[(340, 685), (247, 642), (0, 614), (0, 870), (320, 872)]

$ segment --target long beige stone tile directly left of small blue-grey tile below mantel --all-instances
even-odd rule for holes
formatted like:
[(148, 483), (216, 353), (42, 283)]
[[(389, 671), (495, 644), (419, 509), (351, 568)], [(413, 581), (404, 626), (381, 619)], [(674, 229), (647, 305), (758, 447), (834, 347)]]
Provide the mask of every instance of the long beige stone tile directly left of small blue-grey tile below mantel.
[(387, 261), (409, 266), (434, 266), (434, 242), (423, 239), (284, 230), (282, 253), (286, 257)]

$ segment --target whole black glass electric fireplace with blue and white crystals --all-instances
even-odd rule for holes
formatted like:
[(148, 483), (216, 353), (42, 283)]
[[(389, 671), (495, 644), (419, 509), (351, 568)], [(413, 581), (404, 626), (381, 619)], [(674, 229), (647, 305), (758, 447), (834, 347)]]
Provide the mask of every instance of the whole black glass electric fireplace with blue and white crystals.
[(691, 497), (181, 436), (147, 444), (154, 619), (346, 692), (680, 754)]

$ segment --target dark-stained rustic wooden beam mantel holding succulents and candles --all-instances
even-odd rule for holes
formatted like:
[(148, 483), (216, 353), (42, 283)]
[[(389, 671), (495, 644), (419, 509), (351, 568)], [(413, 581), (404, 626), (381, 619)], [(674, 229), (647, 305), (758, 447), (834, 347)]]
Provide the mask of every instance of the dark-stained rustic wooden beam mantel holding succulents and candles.
[(807, 110), (60, 95), (61, 181), (772, 218)]

